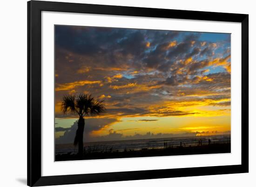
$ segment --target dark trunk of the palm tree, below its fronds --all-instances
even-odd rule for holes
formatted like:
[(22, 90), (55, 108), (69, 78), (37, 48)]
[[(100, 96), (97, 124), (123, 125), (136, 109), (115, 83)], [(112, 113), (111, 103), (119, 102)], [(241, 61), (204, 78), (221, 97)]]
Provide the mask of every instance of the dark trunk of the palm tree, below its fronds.
[(78, 154), (83, 155), (83, 133), (84, 133), (84, 119), (82, 117), (78, 120), (78, 128), (74, 139), (74, 145), (78, 143)]

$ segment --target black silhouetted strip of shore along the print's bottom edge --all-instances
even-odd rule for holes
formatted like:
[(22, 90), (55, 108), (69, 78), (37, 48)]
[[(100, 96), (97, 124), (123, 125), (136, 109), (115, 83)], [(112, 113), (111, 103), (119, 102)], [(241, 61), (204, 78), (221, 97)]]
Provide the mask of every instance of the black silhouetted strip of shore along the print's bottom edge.
[(152, 156), (175, 156), (175, 155), (192, 155), (192, 154), (221, 154), (231, 153), (230, 143), (215, 143), (202, 146), (177, 146), (167, 148), (143, 148), (141, 150), (124, 150), (124, 151), (106, 151), (106, 152), (86, 152), (79, 154), (56, 154), (55, 161), (67, 160), (95, 160), (95, 159), (116, 159), (116, 158), (135, 158), (135, 157), (152, 157)]

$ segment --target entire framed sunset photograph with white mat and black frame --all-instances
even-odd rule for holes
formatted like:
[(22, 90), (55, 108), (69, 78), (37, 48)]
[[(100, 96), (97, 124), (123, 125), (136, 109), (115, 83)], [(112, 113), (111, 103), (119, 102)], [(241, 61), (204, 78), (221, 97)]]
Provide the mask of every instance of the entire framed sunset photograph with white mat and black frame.
[(27, 185), (249, 172), (249, 15), (27, 2)]

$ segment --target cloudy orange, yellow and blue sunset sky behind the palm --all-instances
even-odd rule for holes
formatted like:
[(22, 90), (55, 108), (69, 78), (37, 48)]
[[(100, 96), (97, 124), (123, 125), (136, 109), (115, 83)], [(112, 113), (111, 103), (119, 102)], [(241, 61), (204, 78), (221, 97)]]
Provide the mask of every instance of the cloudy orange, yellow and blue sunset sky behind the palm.
[(72, 143), (68, 93), (104, 100), (84, 141), (230, 134), (230, 34), (55, 26), (55, 138)]

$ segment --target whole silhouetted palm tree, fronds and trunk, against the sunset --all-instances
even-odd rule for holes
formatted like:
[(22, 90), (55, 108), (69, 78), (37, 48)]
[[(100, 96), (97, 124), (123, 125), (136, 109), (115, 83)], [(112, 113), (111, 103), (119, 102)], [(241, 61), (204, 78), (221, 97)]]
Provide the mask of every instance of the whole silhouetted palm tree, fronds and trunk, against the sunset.
[(76, 130), (74, 145), (78, 144), (78, 154), (83, 154), (83, 132), (84, 116), (94, 116), (105, 111), (104, 100), (95, 100), (90, 94), (81, 93), (79, 96), (73, 94), (64, 95), (62, 98), (61, 108), (64, 114), (78, 114), (78, 128)]

